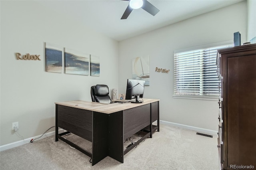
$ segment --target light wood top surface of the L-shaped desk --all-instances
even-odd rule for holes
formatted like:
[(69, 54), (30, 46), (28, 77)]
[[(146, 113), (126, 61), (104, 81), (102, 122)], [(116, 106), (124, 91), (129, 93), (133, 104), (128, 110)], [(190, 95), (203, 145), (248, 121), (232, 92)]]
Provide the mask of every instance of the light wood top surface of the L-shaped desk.
[(66, 102), (59, 102), (59, 103), (57, 102), (55, 104), (110, 114), (118, 111), (123, 111), (126, 109), (131, 109), (134, 107), (146, 105), (156, 101), (160, 101), (160, 100), (159, 99), (143, 99), (143, 103), (128, 102), (128, 103), (111, 103), (111, 104), (89, 102), (89, 101), (66, 101)]

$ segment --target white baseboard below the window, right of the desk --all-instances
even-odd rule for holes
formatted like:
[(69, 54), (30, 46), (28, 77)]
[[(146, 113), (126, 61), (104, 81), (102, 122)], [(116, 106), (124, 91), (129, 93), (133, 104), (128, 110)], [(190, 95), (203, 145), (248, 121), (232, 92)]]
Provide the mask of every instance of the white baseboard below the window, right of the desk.
[[(202, 132), (205, 134), (212, 134), (212, 135), (217, 135), (218, 131), (215, 130), (210, 130), (210, 129), (206, 129), (206, 128), (199, 128), (199, 127), (192, 127), (192, 126), (188, 126), (188, 125), (182, 125), (179, 123), (173, 123), (173, 122), (167, 122), (167, 121), (161, 121), (160, 120), (160, 124), (165, 124), (165, 125), (170, 125), (173, 127), (180, 127), (180, 128), (185, 128), (185, 129), (189, 129), (189, 130), (194, 130), (197, 132)], [(161, 127), (160, 127), (161, 129)]]

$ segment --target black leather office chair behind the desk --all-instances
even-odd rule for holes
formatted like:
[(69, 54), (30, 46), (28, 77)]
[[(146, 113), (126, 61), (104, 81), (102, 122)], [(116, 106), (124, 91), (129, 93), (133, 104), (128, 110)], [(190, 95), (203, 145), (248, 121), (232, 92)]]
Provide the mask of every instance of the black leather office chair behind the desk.
[(91, 87), (91, 97), (93, 102), (112, 103), (107, 85), (94, 85)]

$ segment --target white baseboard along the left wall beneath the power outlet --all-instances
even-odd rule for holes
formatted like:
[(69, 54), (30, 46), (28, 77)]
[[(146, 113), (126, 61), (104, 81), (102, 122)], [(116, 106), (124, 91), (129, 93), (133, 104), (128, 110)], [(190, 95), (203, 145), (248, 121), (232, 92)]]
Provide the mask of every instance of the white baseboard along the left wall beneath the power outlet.
[[(64, 129), (59, 129), (59, 134), (63, 133), (63, 132), (64, 132)], [(35, 138), (38, 138), (40, 136), (42, 136), (42, 137), (40, 137), (38, 140), (41, 140), (43, 138), (47, 138), (47, 137), (53, 136), (53, 135), (55, 135), (55, 130), (52, 131), (52, 132), (48, 132), (48, 133), (44, 134), (43, 136), (41, 134), (41, 135), (34, 136), (34, 137), (31, 137), (31, 138), (26, 138), (24, 140), (20, 140), (20, 141), (17, 141), (17, 142), (2, 145), (2, 146), (0, 146), (0, 151), (7, 150), (7, 149), (14, 148), (14, 147), (17, 147), (17, 146), (20, 146), (20, 145), (23, 145), (23, 144), (30, 143), (31, 139), (35, 139)]]

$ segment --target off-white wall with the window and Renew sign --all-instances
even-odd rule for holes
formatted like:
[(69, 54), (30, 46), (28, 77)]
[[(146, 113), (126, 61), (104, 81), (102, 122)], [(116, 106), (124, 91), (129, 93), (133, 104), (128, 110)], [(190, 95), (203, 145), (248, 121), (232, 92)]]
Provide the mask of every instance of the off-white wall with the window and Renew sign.
[[(174, 50), (233, 40), (234, 32), (247, 38), (246, 1), (119, 42), (119, 91), (132, 78), (132, 59), (150, 55), (150, 86), (145, 98), (160, 99), (160, 120), (208, 130), (218, 129), (218, 102), (174, 99)], [(155, 68), (170, 69), (167, 73)], [(122, 68), (122, 69), (121, 69)]]

